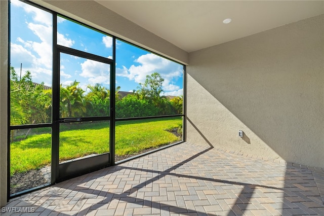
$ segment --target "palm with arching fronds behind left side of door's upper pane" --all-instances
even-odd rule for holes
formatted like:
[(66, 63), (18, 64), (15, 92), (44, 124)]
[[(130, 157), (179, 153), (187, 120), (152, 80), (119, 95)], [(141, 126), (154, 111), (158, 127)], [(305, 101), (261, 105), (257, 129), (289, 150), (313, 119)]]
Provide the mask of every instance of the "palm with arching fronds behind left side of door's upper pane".
[(87, 111), (90, 101), (84, 96), (85, 90), (78, 87), (79, 82), (72, 82), (65, 87), (60, 86), (60, 111), (62, 118), (80, 117)]

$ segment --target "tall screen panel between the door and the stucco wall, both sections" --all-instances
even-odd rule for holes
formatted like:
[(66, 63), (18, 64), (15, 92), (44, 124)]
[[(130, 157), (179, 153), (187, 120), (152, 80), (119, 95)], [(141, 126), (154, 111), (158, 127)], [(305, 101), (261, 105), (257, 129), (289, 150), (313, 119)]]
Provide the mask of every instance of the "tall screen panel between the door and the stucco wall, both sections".
[(116, 41), (115, 161), (182, 140), (183, 76), (183, 65)]

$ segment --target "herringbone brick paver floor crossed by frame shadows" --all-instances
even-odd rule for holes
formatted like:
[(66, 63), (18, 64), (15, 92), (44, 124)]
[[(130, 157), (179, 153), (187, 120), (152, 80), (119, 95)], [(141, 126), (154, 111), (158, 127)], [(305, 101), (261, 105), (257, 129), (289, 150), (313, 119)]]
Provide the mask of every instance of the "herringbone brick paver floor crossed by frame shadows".
[(184, 142), (6, 207), (32, 207), (28, 215), (324, 215), (323, 200), (322, 169)]

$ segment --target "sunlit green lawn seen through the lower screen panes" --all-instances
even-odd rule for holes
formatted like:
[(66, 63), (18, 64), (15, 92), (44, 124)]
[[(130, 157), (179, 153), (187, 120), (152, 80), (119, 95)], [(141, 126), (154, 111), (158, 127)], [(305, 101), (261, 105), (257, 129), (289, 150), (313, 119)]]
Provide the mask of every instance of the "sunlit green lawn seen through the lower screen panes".
[[(179, 141), (180, 138), (167, 130), (178, 128), (182, 119), (137, 120), (116, 122), (115, 154), (136, 155), (142, 150), (158, 148)], [(10, 172), (38, 169), (51, 163), (52, 138), (48, 128), (37, 129), (24, 139), (11, 143)], [(59, 160), (65, 161), (91, 154), (109, 152), (109, 123), (79, 123), (62, 125), (60, 131)]]

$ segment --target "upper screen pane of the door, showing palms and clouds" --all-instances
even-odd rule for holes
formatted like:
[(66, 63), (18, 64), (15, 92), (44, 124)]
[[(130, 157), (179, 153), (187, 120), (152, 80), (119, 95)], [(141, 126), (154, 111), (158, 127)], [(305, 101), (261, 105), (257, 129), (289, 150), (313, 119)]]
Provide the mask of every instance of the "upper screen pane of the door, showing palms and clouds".
[(60, 117), (110, 115), (110, 64), (60, 54)]

